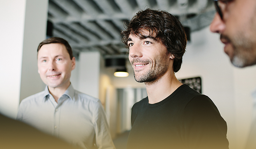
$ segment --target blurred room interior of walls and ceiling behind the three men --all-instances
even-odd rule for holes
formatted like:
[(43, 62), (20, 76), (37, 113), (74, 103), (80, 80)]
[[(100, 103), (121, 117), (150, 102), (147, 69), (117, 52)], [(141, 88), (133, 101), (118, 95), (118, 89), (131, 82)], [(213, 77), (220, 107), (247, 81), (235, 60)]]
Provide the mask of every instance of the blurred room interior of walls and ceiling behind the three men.
[[(147, 92), (144, 83), (133, 78), (120, 31), (136, 12), (151, 8), (172, 13), (186, 27), (189, 42), (176, 76), (184, 82), (200, 78), (196, 87), (227, 122), (230, 149), (244, 147), (256, 69), (233, 67), (219, 35), (209, 31), (215, 14), (212, 0), (8, 0), (1, 1), (0, 8), (2, 114), (15, 119), (20, 101), (44, 90), (37, 73), (37, 46), (58, 36), (70, 43), (76, 57), (73, 87), (100, 99), (117, 149), (125, 148), (132, 105)], [(129, 76), (114, 76), (117, 69)], [(193, 85), (193, 79), (185, 83)]]

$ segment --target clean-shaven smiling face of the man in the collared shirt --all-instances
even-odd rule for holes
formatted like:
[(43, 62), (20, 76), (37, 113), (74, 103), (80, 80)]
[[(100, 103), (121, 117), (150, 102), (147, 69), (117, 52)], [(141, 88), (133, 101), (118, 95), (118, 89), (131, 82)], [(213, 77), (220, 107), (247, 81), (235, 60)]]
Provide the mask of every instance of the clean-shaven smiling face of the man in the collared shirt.
[(38, 73), (42, 81), (51, 88), (67, 88), (71, 70), (75, 69), (75, 57), (70, 59), (63, 44), (44, 44), (38, 51)]

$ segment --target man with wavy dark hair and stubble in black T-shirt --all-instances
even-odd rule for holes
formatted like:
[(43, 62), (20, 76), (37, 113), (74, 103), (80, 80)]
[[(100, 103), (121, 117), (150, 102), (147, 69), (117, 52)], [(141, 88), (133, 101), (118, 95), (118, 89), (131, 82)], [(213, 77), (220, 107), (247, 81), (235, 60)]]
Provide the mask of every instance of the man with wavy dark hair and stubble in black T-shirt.
[(212, 100), (175, 77), (187, 39), (170, 13), (138, 12), (122, 32), (148, 97), (132, 107), (127, 149), (228, 149), (227, 124)]

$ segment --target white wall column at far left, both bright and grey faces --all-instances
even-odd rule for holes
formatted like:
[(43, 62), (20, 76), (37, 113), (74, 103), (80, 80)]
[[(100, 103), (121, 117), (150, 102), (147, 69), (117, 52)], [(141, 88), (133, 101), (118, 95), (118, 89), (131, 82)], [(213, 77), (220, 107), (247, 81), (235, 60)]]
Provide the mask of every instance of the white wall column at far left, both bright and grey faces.
[(0, 1), (0, 112), (9, 117), (20, 98), (41, 91), (35, 45), (46, 36), (47, 9), (47, 0)]

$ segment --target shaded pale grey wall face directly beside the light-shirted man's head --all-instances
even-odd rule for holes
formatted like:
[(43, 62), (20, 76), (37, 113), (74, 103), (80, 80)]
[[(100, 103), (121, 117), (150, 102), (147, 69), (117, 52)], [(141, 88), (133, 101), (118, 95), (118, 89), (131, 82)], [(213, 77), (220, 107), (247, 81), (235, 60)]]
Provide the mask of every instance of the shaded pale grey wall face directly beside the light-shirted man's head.
[(22, 70), (20, 84), (20, 101), (30, 95), (44, 90), (45, 84), (37, 69), (37, 47), (46, 39), (48, 17), (48, 0), (27, 0)]

